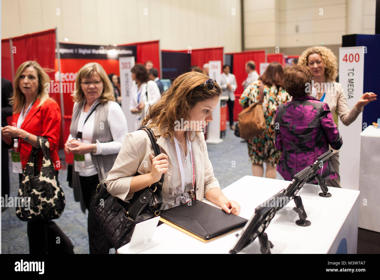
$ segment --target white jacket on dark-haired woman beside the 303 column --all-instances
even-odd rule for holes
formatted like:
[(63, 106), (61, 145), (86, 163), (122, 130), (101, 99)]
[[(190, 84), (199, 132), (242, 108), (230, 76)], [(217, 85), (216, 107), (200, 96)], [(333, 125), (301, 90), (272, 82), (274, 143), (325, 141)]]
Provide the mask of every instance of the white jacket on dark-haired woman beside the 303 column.
[[(147, 92), (147, 94), (146, 94)], [(141, 93), (139, 101), (137, 101), (138, 94)], [(146, 98), (148, 96), (148, 99)], [(157, 83), (154, 81), (148, 81), (147, 83), (142, 83), (140, 88), (135, 84), (131, 89), (131, 97), (129, 99), (129, 109), (137, 108), (139, 104), (144, 103), (145, 107), (141, 114), (135, 114), (135, 129), (137, 130), (141, 125), (142, 120), (146, 116), (149, 107), (152, 106), (161, 97), (160, 90), (158, 89)]]

